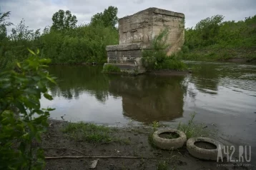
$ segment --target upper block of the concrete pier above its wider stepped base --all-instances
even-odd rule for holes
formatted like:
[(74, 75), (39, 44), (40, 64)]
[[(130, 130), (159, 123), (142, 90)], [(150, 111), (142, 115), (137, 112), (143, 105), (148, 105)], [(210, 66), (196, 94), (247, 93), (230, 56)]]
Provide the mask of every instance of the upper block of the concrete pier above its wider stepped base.
[(119, 44), (142, 42), (149, 46), (164, 28), (169, 31), (167, 53), (172, 54), (184, 44), (184, 14), (164, 9), (149, 8), (119, 19)]

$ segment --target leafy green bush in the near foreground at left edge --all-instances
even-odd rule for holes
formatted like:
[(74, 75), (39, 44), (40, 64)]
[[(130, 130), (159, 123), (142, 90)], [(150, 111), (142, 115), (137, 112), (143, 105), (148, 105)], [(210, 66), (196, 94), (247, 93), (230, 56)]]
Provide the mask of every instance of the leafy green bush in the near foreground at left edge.
[(41, 141), (49, 111), (41, 109), (41, 96), (51, 100), (46, 84), (55, 83), (44, 68), (39, 50), (16, 63), (14, 70), (0, 72), (0, 169), (44, 169), (44, 151), (32, 147)]

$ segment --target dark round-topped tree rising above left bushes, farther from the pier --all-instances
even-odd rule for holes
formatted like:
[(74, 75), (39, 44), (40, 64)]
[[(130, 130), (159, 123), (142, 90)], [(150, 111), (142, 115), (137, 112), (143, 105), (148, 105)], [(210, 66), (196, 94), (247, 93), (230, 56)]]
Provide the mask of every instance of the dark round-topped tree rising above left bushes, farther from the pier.
[(71, 14), (71, 11), (64, 11), (59, 9), (52, 16), (53, 24), (51, 29), (63, 30), (63, 29), (74, 29), (77, 24), (77, 16)]

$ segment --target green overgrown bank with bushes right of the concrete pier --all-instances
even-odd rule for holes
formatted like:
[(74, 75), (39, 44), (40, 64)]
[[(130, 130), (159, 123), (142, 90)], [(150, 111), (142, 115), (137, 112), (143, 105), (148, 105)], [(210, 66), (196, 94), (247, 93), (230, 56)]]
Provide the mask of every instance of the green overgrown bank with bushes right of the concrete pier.
[(243, 21), (223, 21), (215, 15), (185, 29), (179, 56), (186, 60), (256, 59), (256, 15)]

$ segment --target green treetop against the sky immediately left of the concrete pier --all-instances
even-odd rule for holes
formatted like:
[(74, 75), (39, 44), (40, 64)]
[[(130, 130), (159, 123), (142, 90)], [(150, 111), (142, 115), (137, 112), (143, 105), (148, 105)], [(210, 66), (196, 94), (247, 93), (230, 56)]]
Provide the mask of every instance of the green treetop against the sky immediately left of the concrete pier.
[(103, 25), (105, 27), (111, 26), (113, 29), (115, 28), (115, 25), (117, 24), (118, 18), (117, 18), (117, 7), (109, 6), (108, 9), (104, 9), (104, 12), (97, 13), (94, 16), (92, 16), (91, 24), (92, 25)]

